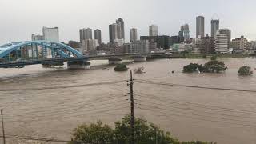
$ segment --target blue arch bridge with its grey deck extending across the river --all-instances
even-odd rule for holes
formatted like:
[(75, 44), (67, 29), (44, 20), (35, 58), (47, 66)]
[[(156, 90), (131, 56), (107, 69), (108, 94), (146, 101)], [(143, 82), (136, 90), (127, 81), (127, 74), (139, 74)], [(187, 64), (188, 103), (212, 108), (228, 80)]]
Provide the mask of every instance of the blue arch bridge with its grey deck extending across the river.
[(109, 59), (111, 63), (121, 62), (123, 57), (133, 57), (138, 61), (145, 61), (146, 57), (164, 56), (165, 53), (140, 53), (140, 54), (109, 54), (85, 56), (72, 47), (63, 43), (49, 41), (12, 42), (0, 46), (0, 68), (16, 66), (50, 64), (54, 62), (68, 62), (72, 68), (90, 65), (92, 59)]

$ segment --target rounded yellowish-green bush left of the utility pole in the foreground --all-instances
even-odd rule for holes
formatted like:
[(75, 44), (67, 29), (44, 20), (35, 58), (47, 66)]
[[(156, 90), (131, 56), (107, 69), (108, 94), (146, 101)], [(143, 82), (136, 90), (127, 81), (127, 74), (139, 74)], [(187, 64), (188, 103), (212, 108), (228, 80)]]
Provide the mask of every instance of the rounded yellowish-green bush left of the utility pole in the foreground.
[(74, 129), (71, 144), (85, 142), (90, 144), (111, 144), (114, 142), (114, 130), (101, 121), (90, 125), (83, 124)]

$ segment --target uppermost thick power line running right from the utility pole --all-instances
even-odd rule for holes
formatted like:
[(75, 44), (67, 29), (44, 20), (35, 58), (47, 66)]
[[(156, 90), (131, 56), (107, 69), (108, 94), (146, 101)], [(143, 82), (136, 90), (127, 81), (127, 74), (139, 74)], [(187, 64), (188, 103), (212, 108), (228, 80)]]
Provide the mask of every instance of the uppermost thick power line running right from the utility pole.
[(136, 80), (138, 80), (138, 83), (146, 83), (146, 84), (154, 84), (154, 85), (162, 85), (162, 86), (177, 86), (177, 87), (196, 88), (196, 89), (227, 90), (227, 91), (240, 91), (240, 92), (256, 93), (256, 90), (241, 90), (241, 89), (206, 87), (206, 86), (188, 86), (188, 85), (180, 85), (180, 84), (166, 83), (166, 82), (154, 82), (154, 81), (143, 80), (143, 79), (136, 79)]

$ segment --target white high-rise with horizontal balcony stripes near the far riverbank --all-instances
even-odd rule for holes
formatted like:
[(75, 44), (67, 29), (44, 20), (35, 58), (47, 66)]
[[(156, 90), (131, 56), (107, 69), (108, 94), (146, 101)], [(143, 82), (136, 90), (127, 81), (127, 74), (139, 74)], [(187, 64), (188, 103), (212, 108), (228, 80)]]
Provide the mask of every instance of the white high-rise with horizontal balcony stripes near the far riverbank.
[(229, 50), (228, 48), (228, 36), (226, 34), (215, 35), (215, 52), (217, 54), (226, 54)]

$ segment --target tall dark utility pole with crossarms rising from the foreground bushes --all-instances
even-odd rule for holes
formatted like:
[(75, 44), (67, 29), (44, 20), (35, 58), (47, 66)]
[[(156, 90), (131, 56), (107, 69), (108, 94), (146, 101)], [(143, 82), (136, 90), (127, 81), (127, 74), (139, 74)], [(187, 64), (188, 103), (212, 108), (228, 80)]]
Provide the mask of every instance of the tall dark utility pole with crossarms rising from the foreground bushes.
[(127, 82), (127, 85), (130, 86), (130, 144), (134, 144), (134, 79), (132, 70), (130, 70), (130, 81)]

